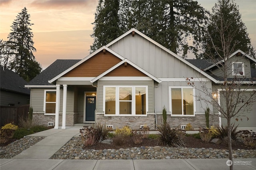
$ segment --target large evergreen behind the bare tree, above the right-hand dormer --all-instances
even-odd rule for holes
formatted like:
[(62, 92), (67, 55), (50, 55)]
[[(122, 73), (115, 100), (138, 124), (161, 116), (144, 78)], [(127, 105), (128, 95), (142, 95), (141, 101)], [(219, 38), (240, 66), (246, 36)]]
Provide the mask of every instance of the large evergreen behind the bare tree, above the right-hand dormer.
[[(204, 53), (198, 55), (197, 58), (206, 56), (220, 58), (225, 53), (222, 44), (226, 44), (226, 42), (223, 41), (229, 41), (229, 39), (232, 41), (229, 41), (225, 50), (229, 51), (230, 54), (240, 49), (255, 58), (254, 48), (246, 31), (247, 28), (242, 22), (238, 6), (233, 0), (218, 0), (212, 8), (210, 16), (210, 23), (207, 27), (210, 36), (204, 40)], [(223, 36), (220, 36), (220, 28), (223, 28)]]

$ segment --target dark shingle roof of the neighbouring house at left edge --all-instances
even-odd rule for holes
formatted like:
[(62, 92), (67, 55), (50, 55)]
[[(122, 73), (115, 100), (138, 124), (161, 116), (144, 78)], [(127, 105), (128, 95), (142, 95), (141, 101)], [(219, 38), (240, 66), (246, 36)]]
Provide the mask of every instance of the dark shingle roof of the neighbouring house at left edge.
[(22, 79), (18, 74), (2, 66), (1, 66), (0, 74), (1, 74), (0, 76), (1, 90), (18, 92), (22, 94), (30, 94), (30, 90), (24, 87), (25, 85), (28, 84), (28, 82)]

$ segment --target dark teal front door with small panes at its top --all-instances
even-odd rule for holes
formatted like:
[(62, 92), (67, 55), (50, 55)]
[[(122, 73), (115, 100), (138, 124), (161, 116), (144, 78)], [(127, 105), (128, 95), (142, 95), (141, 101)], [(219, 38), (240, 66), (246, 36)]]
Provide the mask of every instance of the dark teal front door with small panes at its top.
[(96, 96), (86, 96), (85, 121), (95, 121)]

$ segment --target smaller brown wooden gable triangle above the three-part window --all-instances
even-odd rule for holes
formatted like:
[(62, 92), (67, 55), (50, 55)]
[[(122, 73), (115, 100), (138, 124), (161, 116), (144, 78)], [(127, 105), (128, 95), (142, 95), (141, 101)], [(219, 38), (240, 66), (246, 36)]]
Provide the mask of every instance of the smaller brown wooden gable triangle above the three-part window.
[(137, 68), (134, 68), (130, 64), (124, 63), (118, 66), (116, 69), (112, 70), (105, 76), (147, 76)]

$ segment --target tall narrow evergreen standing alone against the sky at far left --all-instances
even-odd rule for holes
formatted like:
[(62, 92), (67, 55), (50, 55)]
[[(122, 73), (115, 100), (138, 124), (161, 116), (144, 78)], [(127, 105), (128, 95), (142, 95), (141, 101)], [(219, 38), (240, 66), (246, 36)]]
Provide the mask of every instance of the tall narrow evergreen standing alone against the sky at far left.
[(8, 45), (14, 60), (10, 63), (10, 68), (26, 81), (32, 80), (42, 70), (36, 61), (33, 52), (34, 48), (33, 33), (30, 26), (30, 14), (26, 7), (16, 16), (12, 23), (11, 33), (8, 35)]

